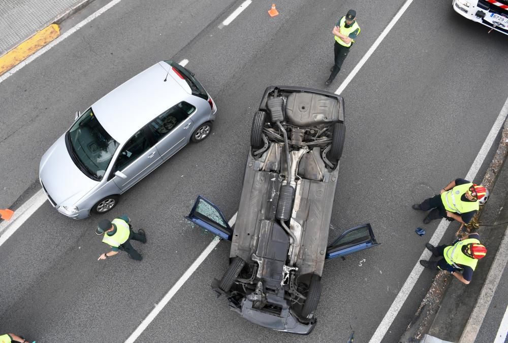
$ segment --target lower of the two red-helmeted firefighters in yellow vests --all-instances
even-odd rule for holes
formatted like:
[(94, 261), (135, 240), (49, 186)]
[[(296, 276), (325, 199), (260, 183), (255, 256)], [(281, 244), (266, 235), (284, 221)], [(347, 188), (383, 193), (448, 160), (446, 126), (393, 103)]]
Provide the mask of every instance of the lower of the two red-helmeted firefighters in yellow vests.
[(425, 268), (450, 271), (460, 282), (467, 285), (471, 282), (478, 260), (487, 254), (487, 249), (480, 244), (479, 239), (478, 233), (470, 233), (455, 241), (451, 246), (434, 247), (426, 243), (425, 248), (435, 257), (443, 258), (433, 262), (420, 260), (420, 264)]

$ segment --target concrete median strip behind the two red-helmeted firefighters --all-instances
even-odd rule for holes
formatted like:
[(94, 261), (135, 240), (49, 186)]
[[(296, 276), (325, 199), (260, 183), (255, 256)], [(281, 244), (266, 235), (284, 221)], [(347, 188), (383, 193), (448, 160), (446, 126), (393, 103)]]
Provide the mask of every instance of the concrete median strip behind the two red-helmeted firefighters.
[(496, 257), (505, 255), (502, 251), (498, 254), (498, 249), (503, 237), (508, 234), (508, 166), (505, 163), (508, 155), (507, 123), (505, 121), (501, 142), (482, 182), (489, 188), (490, 196), (480, 214), (480, 227), (474, 230), (480, 234), (488, 254), (474, 271), (473, 281), (469, 285), (462, 284), (450, 273), (438, 272), (400, 342), (468, 343), (477, 337), (490, 304), (490, 296), (497, 287), (484, 287), (486, 280), (500, 277), (504, 269), (492, 265), (505, 261)]

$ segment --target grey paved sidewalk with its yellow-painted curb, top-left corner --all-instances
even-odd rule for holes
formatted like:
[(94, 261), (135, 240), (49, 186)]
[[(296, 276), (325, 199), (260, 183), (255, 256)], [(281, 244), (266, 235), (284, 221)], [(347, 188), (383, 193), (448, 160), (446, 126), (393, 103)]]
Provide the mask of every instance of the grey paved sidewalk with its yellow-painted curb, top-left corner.
[[(58, 25), (93, 0), (3, 0), (0, 1), (0, 74), (59, 35), (58, 26), (44, 33), (50, 24)], [(29, 40), (43, 31), (45, 38)], [(25, 42), (24, 44), (22, 44)], [(21, 51), (15, 51), (17, 47)], [(7, 53), (9, 58), (6, 58)]]

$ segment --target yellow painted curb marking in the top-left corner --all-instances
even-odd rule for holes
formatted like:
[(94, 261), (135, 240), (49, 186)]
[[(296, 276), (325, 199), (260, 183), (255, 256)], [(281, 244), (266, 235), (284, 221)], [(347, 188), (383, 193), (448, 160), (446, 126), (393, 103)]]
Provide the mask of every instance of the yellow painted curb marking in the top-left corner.
[(43, 48), (58, 36), (60, 36), (60, 27), (57, 24), (51, 24), (28, 38), (16, 48), (0, 57), (0, 75), (24, 61), (28, 56)]

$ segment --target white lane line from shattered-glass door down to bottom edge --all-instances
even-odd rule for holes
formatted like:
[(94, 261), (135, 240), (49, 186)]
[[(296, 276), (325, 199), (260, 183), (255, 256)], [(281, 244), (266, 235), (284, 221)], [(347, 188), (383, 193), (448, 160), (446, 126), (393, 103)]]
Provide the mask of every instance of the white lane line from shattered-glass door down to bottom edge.
[[(236, 222), (236, 215), (235, 213), (233, 217), (229, 220), (228, 224), (229, 226), (233, 226)], [(203, 261), (208, 257), (208, 255), (213, 251), (213, 248), (220, 242), (219, 237), (215, 236), (206, 247), (205, 250), (201, 253), (201, 255), (198, 256), (196, 261), (194, 261), (193, 264), (190, 265), (190, 267), (183, 273), (180, 279), (176, 282), (176, 284), (171, 287), (171, 289), (166, 293), (164, 298), (162, 298), (161, 301), (153, 308), (152, 312), (148, 314), (148, 316), (141, 322), (141, 324), (138, 326), (138, 328), (125, 340), (125, 343), (134, 343), (134, 341), (141, 335), (141, 333), (148, 327), (148, 325), (155, 319), (155, 317), (162, 311), (164, 306), (167, 305), (169, 300), (178, 292), (178, 290), (183, 286), (183, 284), (190, 278), (191, 275), (198, 269), (198, 267), (203, 263)]]

